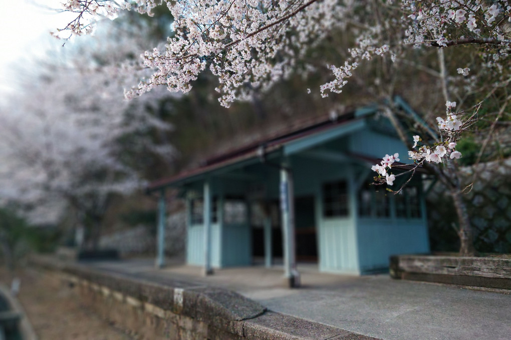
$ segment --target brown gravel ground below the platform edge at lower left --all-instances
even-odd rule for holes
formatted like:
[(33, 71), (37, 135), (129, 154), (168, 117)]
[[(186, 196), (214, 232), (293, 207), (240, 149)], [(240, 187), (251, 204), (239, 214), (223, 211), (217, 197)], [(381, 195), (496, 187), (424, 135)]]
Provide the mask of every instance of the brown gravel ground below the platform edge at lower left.
[[(73, 290), (58, 278), (31, 269), (19, 271), (17, 276), (21, 279), (18, 300), (40, 340), (135, 339), (81, 306)], [(9, 285), (9, 277), (0, 269), (0, 281)]]

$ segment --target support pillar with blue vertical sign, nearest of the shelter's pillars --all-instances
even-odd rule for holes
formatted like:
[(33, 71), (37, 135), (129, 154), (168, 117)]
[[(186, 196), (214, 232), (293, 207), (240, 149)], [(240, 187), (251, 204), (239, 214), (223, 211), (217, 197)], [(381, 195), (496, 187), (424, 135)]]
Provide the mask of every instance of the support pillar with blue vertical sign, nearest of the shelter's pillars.
[(289, 287), (300, 286), (300, 275), (296, 269), (296, 246), (294, 230), (294, 193), (291, 169), (281, 167), (281, 211), (284, 231), (284, 277)]

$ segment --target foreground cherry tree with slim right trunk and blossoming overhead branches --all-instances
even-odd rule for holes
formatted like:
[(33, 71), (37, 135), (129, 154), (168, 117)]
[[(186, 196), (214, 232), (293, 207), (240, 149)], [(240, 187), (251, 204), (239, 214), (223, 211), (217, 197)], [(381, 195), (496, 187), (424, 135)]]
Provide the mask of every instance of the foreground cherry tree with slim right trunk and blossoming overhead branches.
[[(371, 63), (380, 64), (382, 74), (396, 75), (410, 65), (434, 74), (447, 108), (437, 119), (437, 127), (431, 129), (428, 121), (416, 122), (423, 129), (419, 129), (421, 135), (412, 138), (400, 126), (391, 101), (382, 110), (410, 145), (411, 161), (430, 169), (450, 190), (459, 220), (461, 254), (474, 252), (461, 199), (465, 188), (457, 176), (461, 154), (456, 143), (473, 129), (483, 112), (494, 112), (494, 122), (509, 114), (511, 6), (506, 0), (163, 2), (174, 17), (173, 33), (164, 46), (143, 54), (138, 67), (151, 70), (151, 74), (127, 90), (127, 98), (160, 85), (173, 92), (190, 91), (198, 75), (209, 69), (219, 81), (219, 101), (228, 107), (237, 100), (250, 100), (254, 92), (267, 91), (293, 72), (315, 70), (312, 64), (300, 61), (311, 48), (340, 31), (351, 32), (351, 46), (339, 53), (342, 58), (329, 62), (330, 81), (308, 92), (319, 92), (323, 97), (340, 93)], [(151, 15), (160, 3), (68, 0), (64, 10), (76, 13), (76, 19), (59, 34), (89, 33), (95, 17), (114, 17), (121, 10)], [(438, 51), (437, 70), (413, 60), (431, 49)], [(446, 66), (446, 56), (453, 63), (459, 60), (456, 72)], [(388, 98), (394, 79), (379, 78)], [(491, 125), (489, 135), (495, 127)], [(398, 175), (392, 174), (391, 168), (397, 158), (399, 155), (387, 155), (373, 167), (377, 182), (393, 184)]]

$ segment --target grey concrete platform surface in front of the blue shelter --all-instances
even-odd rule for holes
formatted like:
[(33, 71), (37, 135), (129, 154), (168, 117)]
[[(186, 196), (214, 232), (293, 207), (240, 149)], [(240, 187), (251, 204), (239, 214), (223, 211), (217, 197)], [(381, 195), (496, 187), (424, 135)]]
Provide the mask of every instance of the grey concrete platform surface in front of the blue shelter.
[(183, 280), (233, 289), (268, 309), (388, 340), (511, 340), (511, 295), (457, 286), (392, 280), (388, 275), (319, 273), (298, 265), (302, 287), (286, 286), (282, 268), (216, 270), (169, 260), (162, 270), (152, 259), (90, 262), (92, 268), (158, 283)]

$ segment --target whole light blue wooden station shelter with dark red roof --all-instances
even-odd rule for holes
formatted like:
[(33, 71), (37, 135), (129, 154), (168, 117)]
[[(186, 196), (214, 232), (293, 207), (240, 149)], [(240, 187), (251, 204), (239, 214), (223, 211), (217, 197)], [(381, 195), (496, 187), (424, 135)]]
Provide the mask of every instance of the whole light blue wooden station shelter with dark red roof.
[(251, 265), (257, 255), (266, 265), (282, 256), (285, 276), (297, 285), (297, 259), (317, 261), (321, 272), (361, 275), (388, 268), (390, 255), (429, 252), (420, 176), (401, 195), (370, 185), (371, 165), (396, 152), (406, 160), (407, 151), (370, 106), (288, 127), (149, 190), (161, 193), (160, 233), (166, 188), (178, 188), (186, 201), (189, 264), (207, 274)]

